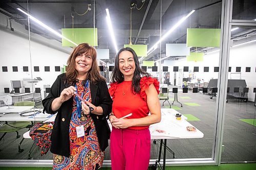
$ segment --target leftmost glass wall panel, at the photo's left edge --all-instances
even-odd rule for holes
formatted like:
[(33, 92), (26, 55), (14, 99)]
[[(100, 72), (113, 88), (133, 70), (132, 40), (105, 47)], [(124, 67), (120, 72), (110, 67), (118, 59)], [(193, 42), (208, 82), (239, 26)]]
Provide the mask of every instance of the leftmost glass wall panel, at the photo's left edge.
[[(0, 4), (0, 159), (28, 159), (31, 139), (24, 139), (34, 125), (34, 91), (26, 2)], [(28, 135), (29, 136), (29, 135)]]

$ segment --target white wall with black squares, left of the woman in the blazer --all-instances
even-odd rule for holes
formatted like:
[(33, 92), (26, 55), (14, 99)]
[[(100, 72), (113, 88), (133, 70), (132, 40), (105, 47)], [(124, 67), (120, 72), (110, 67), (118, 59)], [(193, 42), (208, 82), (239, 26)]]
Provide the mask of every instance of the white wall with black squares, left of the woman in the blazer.
[[(28, 31), (16, 22), (12, 23), (14, 32), (6, 29), (3, 17), (3, 15), (0, 16), (0, 94), (4, 93), (4, 87), (11, 88), (10, 80), (41, 77), (42, 81), (39, 81), (35, 87), (52, 85), (56, 77), (61, 74), (60, 71), (55, 71), (55, 66), (63, 67), (67, 63), (72, 48), (62, 47), (56, 40), (49, 40), (31, 33), (30, 54)], [(8, 72), (3, 72), (2, 66), (7, 66)], [(17, 66), (18, 72), (13, 72), (12, 66)], [(23, 66), (28, 66), (29, 71), (24, 72)], [(39, 66), (39, 72), (34, 72), (34, 66)], [(50, 72), (45, 72), (45, 66), (50, 66)]]

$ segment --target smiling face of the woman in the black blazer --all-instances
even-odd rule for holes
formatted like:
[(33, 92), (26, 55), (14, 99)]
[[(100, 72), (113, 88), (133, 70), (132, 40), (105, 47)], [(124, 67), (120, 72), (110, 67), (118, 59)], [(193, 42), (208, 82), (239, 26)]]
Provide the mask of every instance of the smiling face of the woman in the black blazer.
[[(88, 72), (92, 68), (92, 56), (88, 53), (78, 54), (75, 58), (75, 69), (79, 76), (87, 76)], [(78, 79), (80, 79), (78, 77)]]

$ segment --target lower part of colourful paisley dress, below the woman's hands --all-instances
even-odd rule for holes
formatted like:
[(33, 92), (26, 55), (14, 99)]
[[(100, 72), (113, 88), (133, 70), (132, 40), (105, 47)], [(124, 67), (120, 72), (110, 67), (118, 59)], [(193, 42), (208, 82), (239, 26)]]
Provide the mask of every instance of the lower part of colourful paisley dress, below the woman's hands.
[[(76, 135), (76, 127), (84, 126), (84, 136)], [(94, 122), (90, 115), (78, 118), (73, 110), (70, 123), (70, 157), (53, 154), (53, 169), (95, 170), (102, 166), (104, 152), (100, 150)]]

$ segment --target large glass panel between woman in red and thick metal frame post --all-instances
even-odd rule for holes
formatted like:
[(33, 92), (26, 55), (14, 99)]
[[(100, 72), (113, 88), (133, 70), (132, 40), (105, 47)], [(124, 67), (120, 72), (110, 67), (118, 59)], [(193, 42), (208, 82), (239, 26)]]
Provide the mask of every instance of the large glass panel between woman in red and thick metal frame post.
[[(173, 133), (173, 138), (167, 140), (173, 153), (167, 151), (166, 158), (170, 162), (183, 158), (211, 159), (216, 130), (222, 3), (160, 2), (161, 51), (149, 56), (161, 70), (160, 92), (168, 88), (168, 98), (160, 100), (161, 108), (171, 107), (174, 112), (182, 114), (187, 118), (184, 122), (198, 132), (188, 137), (185, 132), (181, 135), (181, 123), (174, 122), (171, 127), (166, 124)], [(181, 20), (182, 17), (185, 18)], [(175, 126), (180, 126), (180, 129), (173, 132)], [(157, 159), (160, 143), (154, 143), (152, 159)]]

